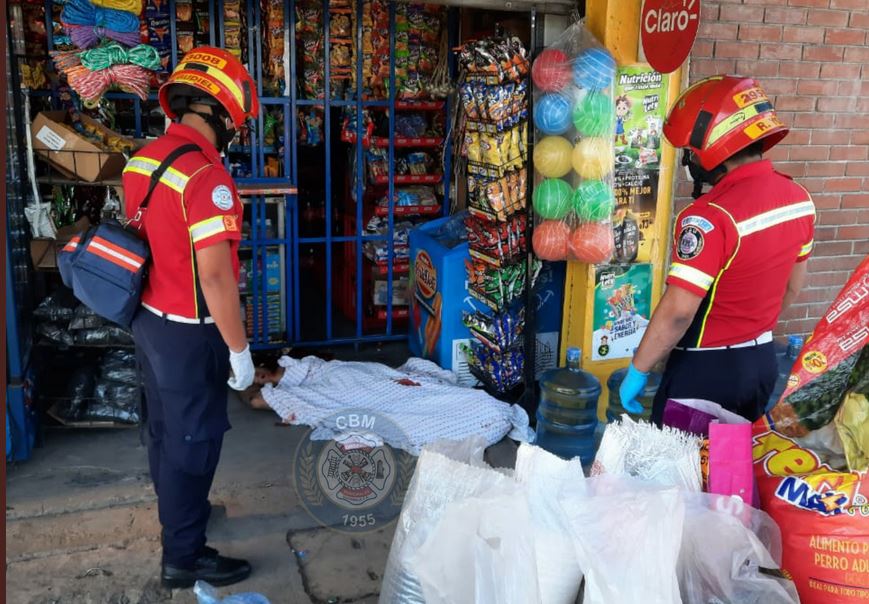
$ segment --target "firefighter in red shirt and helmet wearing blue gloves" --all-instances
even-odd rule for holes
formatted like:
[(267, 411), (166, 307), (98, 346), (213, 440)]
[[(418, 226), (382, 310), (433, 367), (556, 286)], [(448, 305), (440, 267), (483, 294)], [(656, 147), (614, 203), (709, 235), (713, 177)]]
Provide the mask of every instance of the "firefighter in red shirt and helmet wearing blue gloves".
[(754, 421), (772, 393), (772, 330), (802, 289), (815, 220), (809, 193), (761, 157), (787, 133), (749, 78), (697, 82), (667, 117), (664, 136), (685, 149), (696, 201), (676, 217), (668, 287), (620, 388), (636, 409), (669, 354), (652, 412), (659, 425), (670, 398), (714, 401)]

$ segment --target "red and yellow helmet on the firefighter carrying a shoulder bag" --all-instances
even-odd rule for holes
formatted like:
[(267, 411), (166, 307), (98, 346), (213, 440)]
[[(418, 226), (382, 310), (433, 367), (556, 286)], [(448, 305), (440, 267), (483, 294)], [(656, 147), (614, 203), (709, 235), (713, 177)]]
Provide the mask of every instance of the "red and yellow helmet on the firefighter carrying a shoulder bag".
[(175, 102), (183, 97), (195, 98), (200, 93), (226, 109), (236, 128), (259, 113), (253, 78), (234, 55), (221, 48), (199, 46), (184, 55), (160, 87), (160, 107), (170, 119), (175, 118), (178, 114), (173, 107)]

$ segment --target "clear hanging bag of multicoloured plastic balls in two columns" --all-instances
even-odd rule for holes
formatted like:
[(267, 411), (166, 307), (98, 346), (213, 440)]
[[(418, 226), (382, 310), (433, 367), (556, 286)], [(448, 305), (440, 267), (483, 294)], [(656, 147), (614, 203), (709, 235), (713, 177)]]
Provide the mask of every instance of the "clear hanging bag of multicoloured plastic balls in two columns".
[(613, 255), (615, 73), (615, 59), (582, 23), (531, 66), (532, 246), (543, 260), (600, 264)]

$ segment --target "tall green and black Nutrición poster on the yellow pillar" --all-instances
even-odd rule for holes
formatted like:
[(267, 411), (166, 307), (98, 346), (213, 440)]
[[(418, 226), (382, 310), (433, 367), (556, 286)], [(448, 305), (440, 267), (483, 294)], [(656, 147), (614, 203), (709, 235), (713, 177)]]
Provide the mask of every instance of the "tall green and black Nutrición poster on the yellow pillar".
[(667, 76), (647, 65), (620, 67), (615, 88), (614, 228), (617, 262), (649, 262), (658, 200)]

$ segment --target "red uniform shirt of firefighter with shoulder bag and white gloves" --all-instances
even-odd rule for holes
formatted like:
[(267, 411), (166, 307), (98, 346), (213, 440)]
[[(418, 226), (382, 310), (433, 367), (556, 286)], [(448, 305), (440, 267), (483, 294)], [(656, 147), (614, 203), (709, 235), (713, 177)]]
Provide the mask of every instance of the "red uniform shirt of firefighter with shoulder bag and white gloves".
[(148, 191), (151, 174), (172, 151), (196, 144), (202, 153), (185, 153), (173, 162), (154, 189), (144, 213), (142, 232), (151, 248), (151, 266), (142, 303), (191, 319), (208, 316), (196, 274), (194, 250), (229, 241), (238, 279), (242, 205), (214, 145), (196, 130), (172, 124), (124, 168), (127, 217), (135, 216)]

